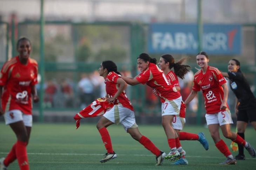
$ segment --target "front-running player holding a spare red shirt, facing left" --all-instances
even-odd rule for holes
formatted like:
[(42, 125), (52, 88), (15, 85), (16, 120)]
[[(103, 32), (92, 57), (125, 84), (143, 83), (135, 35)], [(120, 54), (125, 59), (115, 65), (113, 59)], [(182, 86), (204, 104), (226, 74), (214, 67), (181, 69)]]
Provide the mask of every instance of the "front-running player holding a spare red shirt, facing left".
[(160, 151), (146, 136), (143, 136), (139, 132), (135, 121), (133, 106), (124, 91), (127, 83), (119, 77), (120, 73), (117, 71), (116, 64), (112, 61), (102, 62), (99, 68), (99, 74), (105, 78), (107, 100), (114, 103), (114, 106), (109, 109), (97, 123), (97, 129), (100, 132), (101, 139), (107, 150), (105, 157), (100, 162), (103, 163), (116, 158), (107, 127), (114, 123), (117, 125), (121, 123), (123, 128), (133, 139), (139, 141), (145, 148), (150, 150), (151, 153), (156, 155), (156, 165), (161, 165), (166, 154)]

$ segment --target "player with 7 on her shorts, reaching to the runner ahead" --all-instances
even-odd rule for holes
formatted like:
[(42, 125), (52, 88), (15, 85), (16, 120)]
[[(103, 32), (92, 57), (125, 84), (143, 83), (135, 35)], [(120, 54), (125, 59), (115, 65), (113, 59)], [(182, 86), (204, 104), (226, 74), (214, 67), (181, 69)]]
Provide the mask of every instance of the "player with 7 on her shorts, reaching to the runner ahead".
[(156, 65), (156, 59), (151, 58), (148, 54), (142, 53), (137, 58), (137, 65), (141, 73), (134, 78), (121, 76), (127, 84), (147, 84), (159, 95), (162, 102), (162, 125), (167, 136), (170, 153), (165, 159), (176, 160), (180, 153), (176, 148), (178, 135), (171, 126), (175, 115), (180, 114), (181, 94), (176, 88), (169, 84), (163, 71)]

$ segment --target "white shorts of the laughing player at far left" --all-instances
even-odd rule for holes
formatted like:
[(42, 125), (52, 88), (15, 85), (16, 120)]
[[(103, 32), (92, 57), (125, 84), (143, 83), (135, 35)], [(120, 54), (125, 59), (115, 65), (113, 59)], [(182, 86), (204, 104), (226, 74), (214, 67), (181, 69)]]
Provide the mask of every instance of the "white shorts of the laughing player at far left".
[(32, 115), (24, 114), (20, 110), (14, 109), (4, 114), (5, 124), (9, 125), (18, 121), (23, 121), (25, 126), (32, 127)]

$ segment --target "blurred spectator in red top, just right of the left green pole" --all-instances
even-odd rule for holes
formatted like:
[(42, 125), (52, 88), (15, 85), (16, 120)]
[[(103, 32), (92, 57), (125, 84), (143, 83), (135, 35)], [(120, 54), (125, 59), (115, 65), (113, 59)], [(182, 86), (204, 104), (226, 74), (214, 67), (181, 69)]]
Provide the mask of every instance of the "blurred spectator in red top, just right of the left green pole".
[(52, 80), (48, 80), (45, 87), (45, 97), (44, 97), (46, 107), (54, 106), (53, 97), (56, 92), (57, 92), (57, 86), (53, 83)]

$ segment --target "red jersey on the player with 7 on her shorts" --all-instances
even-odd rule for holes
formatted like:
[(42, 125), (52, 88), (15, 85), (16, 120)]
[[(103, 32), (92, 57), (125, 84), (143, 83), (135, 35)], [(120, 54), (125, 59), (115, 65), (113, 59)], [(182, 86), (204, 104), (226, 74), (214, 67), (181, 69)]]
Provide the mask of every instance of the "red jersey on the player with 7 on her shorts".
[(168, 82), (163, 71), (153, 63), (149, 63), (148, 68), (141, 72), (136, 79), (140, 83), (147, 83), (149, 87), (152, 87), (159, 94), (162, 103), (166, 99), (173, 100), (181, 96), (180, 92)]

